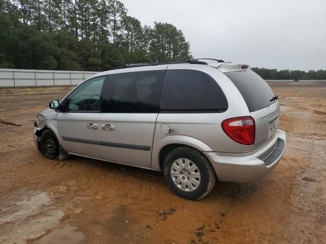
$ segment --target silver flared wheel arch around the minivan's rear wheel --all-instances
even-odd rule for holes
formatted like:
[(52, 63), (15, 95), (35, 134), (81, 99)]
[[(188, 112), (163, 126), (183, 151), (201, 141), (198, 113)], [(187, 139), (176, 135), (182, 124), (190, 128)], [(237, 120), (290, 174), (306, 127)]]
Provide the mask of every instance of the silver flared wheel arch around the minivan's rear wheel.
[(204, 142), (196, 138), (189, 137), (189, 136), (182, 136), (182, 135), (170, 135), (170, 136), (168, 135), (153, 142), (152, 161), (151, 161), (152, 169), (161, 171), (159, 165), (159, 154), (163, 147), (170, 144), (182, 144), (186, 146), (191, 146), (199, 151), (205, 151), (205, 152), (212, 151), (212, 149), (208, 145), (206, 145)]

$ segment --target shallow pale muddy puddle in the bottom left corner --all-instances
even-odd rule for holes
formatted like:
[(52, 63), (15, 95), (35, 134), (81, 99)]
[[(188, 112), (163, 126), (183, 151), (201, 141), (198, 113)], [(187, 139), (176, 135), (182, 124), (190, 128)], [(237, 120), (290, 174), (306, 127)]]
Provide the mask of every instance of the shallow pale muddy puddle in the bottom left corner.
[(61, 223), (64, 212), (56, 209), (46, 193), (32, 195), (0, 212), (0, 244), (80, 243), (85, 235)]

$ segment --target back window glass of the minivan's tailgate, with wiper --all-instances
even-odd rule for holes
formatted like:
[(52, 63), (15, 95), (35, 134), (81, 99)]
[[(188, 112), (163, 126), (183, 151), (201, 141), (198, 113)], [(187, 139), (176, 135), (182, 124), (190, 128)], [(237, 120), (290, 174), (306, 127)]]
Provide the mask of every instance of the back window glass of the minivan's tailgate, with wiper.
[(273, 90), (252, 70), (224, 73), (238, 88), (250, 112), (265, 108), (276, 102), (270, 101), (275, 95)]

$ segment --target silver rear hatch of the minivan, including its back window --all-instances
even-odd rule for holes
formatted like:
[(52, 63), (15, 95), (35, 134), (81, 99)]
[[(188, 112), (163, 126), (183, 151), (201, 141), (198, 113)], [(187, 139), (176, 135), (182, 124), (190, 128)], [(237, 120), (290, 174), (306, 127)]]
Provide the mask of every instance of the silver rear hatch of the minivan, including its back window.
[(280, 105), (269, 85), (254, 71), (224, 72), (246, 101), (250, 116), (255, 119), (254, 149), (269, 141), (279, 124)]

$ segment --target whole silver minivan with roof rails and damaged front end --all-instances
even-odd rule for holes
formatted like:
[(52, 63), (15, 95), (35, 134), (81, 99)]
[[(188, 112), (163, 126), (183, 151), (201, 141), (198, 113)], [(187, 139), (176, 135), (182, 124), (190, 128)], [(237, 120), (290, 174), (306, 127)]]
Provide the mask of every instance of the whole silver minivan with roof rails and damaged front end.
[(216, 178), (259, 180), (285, 150), (278, 97), (248, 65), (219, 59), (125, 65), (49, 107), (33, 132), (46, 158), (78, 155), (163, 171), (186, 199), (207, 195)]

